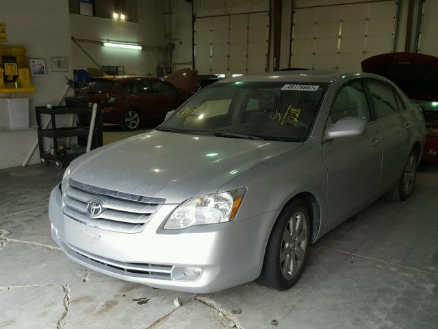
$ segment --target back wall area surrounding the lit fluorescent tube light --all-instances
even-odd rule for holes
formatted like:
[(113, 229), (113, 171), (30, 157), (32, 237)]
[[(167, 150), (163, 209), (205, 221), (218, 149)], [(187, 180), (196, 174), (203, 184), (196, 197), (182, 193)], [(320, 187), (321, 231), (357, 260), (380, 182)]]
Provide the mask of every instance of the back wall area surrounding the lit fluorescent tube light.
[[(103, 47), (99, 42), (79, 42), (100, 65), (125, 66), (125, 74), (155, 76), (157, 65), (166, 61), (164, 49), (164, 3), (159, 0), (137, 1), (138, 23), (113, 21), (99, 17), (70, 14), (70, 33), (78, 39), (138, 42), (143, 50)], [(72, 41), (73, 69), (96, 64)]]

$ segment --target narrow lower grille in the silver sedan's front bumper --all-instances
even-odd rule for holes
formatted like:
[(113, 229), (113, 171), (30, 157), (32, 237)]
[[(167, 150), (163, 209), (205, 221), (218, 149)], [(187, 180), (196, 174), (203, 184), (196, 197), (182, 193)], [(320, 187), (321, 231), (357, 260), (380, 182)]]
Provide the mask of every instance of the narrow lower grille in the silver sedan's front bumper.
[(88, 252), (83, 252), (80, 249), (76, 249), (70, 245), (67, 245), (62, 241), (62, 245), (66, 252), (83, 261), (84, 263), (98, 267), (105, 271), (110, 271), (112, 273), (117, 273), (122, 276), (131, 276), (135, 278), (150, 278), (158, 280), (172, 280), (171, 272), (172, 265), (162, 265), (162, 264), (146, 264), (146, 263), (122, 263), (117, 260), (112, 260), (109, 258), (103, 258)]

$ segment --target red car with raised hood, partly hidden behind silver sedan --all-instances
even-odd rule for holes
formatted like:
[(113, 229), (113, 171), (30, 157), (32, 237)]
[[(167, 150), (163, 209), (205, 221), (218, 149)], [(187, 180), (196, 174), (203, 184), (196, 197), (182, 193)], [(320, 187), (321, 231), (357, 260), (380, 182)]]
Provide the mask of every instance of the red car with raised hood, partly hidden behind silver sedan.
[(422, 160), (438, 162), (438, 57), (383, 53), (363, 60), (362, 71), (383, 75), (422, 108), (427, 127)]

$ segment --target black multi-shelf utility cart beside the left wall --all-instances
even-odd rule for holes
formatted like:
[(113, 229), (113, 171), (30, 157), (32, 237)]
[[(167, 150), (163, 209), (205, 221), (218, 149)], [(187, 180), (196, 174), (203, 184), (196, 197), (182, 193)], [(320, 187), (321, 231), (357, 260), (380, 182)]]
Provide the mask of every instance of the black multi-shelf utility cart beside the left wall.
[[(49, 161), (55, 161), (55, 167), (61, 169), (66, 162), (77, 158), (86, 152), (88, 141), (88, 132), (90, 130), (92, 108), (90, 107), (71, 107), (71, 106), (53, 106), (47, 108), (44, 106), (36, 107), (36, 122), (38, 124), (38, 145), (40, 148), (40, 159), (42, 164), (47, 164)], [(42, 129), (41, 114), (51, 115), (51, 126), (47, 129)], [(77, 114), (77, 127), (56, 127), (56, 116), (58, 114)], [(85, 122), (84, 122), (85, 121)], [(102, 146), (102, 126), (103, 116), (100, 111), (96, 113), (96, 122), (94, 124), (92, 149)], [(58, 138), (78, 137), (79, 147), (75, 149), (60, 149)], [(44, 137), (53, 140), (53, 149), (47, 152), (44, 151)]]

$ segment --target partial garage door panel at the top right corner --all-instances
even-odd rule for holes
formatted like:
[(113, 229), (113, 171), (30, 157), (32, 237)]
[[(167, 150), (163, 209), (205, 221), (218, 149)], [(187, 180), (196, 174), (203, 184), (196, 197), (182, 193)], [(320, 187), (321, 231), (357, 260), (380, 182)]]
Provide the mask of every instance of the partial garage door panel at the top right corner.
[(420, 35), (417, 52), (438, 56), (438, 1), (426, 0), (423, 3)]

